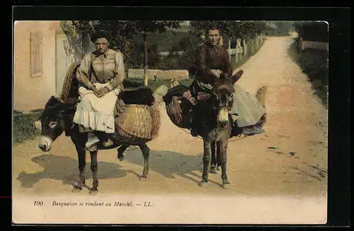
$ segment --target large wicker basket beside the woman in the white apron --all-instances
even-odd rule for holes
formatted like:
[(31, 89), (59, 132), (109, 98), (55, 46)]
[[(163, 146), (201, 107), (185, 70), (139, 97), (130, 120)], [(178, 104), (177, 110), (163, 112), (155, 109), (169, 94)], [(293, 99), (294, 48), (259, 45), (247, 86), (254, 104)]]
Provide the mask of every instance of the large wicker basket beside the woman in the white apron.
[(125, 105), (117, 100), (115, 139), (122, 143), (145, 143), (159, 136), (161, 126), (160, 105)]

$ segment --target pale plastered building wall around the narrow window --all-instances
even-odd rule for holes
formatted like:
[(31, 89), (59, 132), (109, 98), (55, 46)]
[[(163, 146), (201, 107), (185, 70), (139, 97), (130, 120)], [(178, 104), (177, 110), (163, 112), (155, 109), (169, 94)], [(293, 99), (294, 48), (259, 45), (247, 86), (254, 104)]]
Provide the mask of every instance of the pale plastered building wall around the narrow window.
[[(30, 32), (35, 31), (42, 32), (42, 75), (33, 78), (30, 74)], [(53, 22), (17, 21), (13, 32), (13, 109), (42, 108), (55, 94)]]

